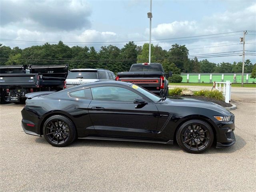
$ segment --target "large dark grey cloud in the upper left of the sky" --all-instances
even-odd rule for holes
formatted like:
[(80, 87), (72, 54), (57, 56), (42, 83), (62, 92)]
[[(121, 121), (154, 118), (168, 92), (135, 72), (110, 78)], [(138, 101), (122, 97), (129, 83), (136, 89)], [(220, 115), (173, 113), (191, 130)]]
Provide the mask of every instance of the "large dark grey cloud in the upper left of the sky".
[(22, 26), (51, 30), (89, 28), (89, 5), (84, 1), (2, 1), (2, 26)]

